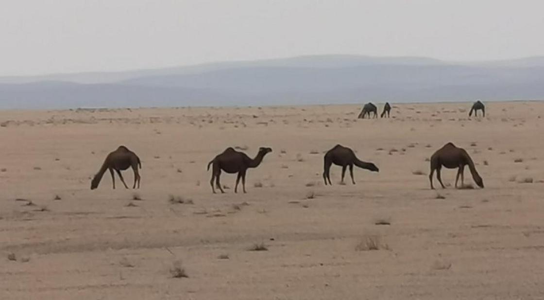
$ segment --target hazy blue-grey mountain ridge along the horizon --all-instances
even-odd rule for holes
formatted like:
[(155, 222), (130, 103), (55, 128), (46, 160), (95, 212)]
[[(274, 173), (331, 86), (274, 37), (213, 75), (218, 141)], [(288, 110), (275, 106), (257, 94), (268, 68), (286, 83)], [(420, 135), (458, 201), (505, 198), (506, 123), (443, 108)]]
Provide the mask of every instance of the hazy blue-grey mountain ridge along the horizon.
[(124, 72), (0, 77), (0, 108), (544, 99), (544, 57), (456, 63), (303, 56)]

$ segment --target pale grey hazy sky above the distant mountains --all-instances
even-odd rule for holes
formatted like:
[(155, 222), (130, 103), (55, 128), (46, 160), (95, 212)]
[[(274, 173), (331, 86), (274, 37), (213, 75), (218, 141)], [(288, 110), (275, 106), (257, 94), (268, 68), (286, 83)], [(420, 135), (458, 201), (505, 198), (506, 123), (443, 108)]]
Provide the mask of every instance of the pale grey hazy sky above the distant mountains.
[(306, 54), (544, 55), (541, 0), (0, 0), (0, 76)]

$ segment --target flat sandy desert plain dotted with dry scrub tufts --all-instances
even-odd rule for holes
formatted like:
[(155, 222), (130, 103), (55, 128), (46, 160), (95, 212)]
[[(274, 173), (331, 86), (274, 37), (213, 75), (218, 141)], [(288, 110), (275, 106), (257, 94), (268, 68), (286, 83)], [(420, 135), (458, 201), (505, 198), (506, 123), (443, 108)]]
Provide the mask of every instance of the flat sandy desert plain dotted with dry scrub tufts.
[[(0, 298), (542, 299), (544, 102), (470, 107), (0, 112)], [(443, 169), (447, 188), (430, 189), (428, 158), (448, 142), (485, 188), (455, 189)], [(340, 185), (333, 166), (325, 186), (336, 144), (380, 172)], [(91, 191), (119, 145), (141, 158), (141, 188), (106, 173)], [(273, 149), (247, 194), (225, 173), (212, 194), (206, 166), (228, 146)]]

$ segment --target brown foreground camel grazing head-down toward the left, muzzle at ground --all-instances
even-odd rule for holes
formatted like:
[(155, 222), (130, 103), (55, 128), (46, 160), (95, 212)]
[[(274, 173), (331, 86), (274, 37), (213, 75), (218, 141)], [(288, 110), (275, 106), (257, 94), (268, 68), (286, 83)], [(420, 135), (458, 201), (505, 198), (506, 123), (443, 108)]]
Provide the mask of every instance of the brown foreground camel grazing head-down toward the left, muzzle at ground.
[(113, 170), (117, 172), (123, 185), (128, 188), (125, 180), (123, 179), (123, 176), (121, 175), (121, 171), (126, 170), (129, 167), (132, 167), (132, 170), (134, 171), (134, 185), (132, 186), (132, 188), (136, 188), (137, 182), (138, 188), (140, 188), (140, 174), (138, 173), (138, 167), (140, 167), (141, 169), (140, 158), (136, 154), (134, 154), (134, 152), (128, 150), (128, 148), (126, 148), (125, 146), (119, 146), (117, 150), (111, 152), (110, 154), (108, 154), (108, 156), (106, 156), (106, 160), (104, 160), (102, 167), (91, 181), (91, 189), (95, 189), (98, 187), (98, 183), (100, 183), (100, 180), (102, 179), (102, 176), (104, 175), (106, 170), (109, 170), (109, 173), (112, 174), (114, 189), (115, 176), (113, 174)]

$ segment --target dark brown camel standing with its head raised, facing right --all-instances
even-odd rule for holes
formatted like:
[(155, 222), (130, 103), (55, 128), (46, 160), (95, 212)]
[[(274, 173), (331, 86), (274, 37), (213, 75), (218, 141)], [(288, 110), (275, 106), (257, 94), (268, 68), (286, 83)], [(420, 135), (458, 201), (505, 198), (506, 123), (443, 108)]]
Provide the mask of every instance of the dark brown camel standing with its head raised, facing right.
[(221, 187), (221, 183), (219, 182), (221, 170), (224, 170), (226, 173), (230, 174), (238, 173), (238, 177), (236, 178), (236, 186), (234, 186), (234, 193), (238, 193), (238, 183), (240, 182), (240, 178), (242, 178), (242, 188), (245, 193), (246, 171), (249, 168), (257, 168), (263, 161), (263, 157), (269, 152), (272, 152), (271, 148), (261, 147), (259, 148), (257, 156), (251, 159), (245, 153), (236, 151), (229, 147), (218, 156), (215, 156), (215, 158), (208, 163), (208, 170), (209, 166), (213, 164), (212, 180), (209, 181), (210, 185), (212, 185), (213, 193), (215, 194), (215, 188), (213, 187), (214, 180), (221, 193), (225, 193)]

